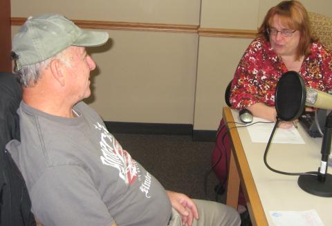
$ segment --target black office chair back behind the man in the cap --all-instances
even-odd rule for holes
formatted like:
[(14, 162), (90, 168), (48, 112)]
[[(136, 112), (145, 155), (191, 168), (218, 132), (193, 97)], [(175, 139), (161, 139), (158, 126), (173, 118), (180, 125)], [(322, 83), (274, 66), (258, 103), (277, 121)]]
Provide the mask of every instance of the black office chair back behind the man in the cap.
[(0, 226), (36, 225), (24, 178), (5, 150), (10, 140), (20, 140), (16, 111), (21, 99), (17, 77), (0, 73)]

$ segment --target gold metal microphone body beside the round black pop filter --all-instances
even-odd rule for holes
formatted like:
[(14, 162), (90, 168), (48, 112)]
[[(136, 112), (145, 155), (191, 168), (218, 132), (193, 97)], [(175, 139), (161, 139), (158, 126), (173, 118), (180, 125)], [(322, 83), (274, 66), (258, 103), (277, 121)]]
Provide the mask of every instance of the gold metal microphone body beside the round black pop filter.
[(306, 105), (318, 109), (332, 109), (332, 95), (314, 88), (306, 88)]

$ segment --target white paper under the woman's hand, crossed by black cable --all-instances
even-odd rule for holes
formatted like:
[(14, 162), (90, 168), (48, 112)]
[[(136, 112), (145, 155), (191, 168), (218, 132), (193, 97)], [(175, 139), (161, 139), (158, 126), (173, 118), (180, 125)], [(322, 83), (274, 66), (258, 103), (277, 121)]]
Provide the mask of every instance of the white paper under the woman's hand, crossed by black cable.
[[(255, 118), (253, 122), (268, 122), (261, 118)], [(247, 127), (251, 141), (257, 143), (267, 143), (273, 131), (275, 123), (257, 123)], [(273, 143), (282, 144), (305, 144), (299, 131), (293, 126), (290, 129), (277, 128), (273, 135)]]

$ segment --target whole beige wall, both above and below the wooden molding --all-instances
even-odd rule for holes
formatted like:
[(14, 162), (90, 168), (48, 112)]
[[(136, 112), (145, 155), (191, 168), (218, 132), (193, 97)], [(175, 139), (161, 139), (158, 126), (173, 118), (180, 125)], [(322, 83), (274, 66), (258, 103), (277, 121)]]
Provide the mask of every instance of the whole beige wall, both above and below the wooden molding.
[[(171, 23), (255, 30), (272, 0), (12, 0), (12, 17), (57, 12), (69, 19)], [(302, 1), (332, 17), (332, 1)], [(12, 33), (17, 27), (12, 27)], [(104, 120), (194, 124), (215, 130), (224, 91), (248, 38), (197, 33), (107, 30), (111, 42), (90, 50), (98, 64), (87, 100)]]

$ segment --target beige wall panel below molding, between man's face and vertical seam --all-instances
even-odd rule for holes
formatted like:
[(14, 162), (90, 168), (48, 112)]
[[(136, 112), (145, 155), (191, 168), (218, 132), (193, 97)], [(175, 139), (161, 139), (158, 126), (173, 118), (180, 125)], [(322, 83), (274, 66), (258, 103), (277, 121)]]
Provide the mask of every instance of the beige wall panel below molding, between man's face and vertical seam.
[(91, 106), (107, 121), (192, 124), (197, 35), (109, 33), (112, 48), (93, 54), (100, 75)]

